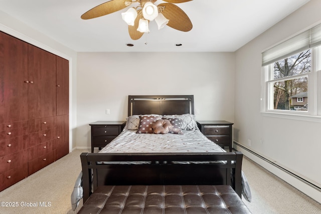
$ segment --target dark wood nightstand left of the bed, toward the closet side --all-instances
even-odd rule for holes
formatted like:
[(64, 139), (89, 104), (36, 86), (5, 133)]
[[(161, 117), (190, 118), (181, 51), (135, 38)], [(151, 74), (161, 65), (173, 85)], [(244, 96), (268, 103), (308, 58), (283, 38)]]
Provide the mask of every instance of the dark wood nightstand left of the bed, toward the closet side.
[(97, 121), (91, 126), (91, 153), (94, 147), (102, 148), (117, 137), (124, 128), (126, 121)]

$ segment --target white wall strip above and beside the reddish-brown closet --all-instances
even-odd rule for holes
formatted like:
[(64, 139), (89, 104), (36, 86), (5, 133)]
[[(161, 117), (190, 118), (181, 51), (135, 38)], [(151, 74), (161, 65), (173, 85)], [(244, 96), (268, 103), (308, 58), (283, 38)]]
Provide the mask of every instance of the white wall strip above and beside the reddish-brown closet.
[(69, 60), (69, 151), (76, 146), (76, 69), (77, 69), (77, 53), (68, 47), (54, 41), (50, 37), (30, 28), (8, 14), (0, 11), (0, 31), (11, 36), (21, 39), (27, 43), (42, 48), (48, 52), (56, 54), (62, 58)]

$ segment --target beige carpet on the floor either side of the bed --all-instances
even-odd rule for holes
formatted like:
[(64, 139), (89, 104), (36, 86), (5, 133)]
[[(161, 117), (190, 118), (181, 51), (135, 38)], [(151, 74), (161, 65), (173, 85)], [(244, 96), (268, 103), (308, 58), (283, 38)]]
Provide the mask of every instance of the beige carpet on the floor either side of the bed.
[[(81, 152), (87, 150), (75, 150), (0, 192), (1, 201), (19, 204), (17, 207), (0, 206), (0, 213), (76, 213), (72, 211), (70, 195), (81, 171)], [(252, 190), (252, 202), (245, 203), (253, 213), (321, 213), (321, 204), (246, 157), (243, 159), (243, 171)], [(21, 206), (28, 202), (37, 206)], [(40, 206), (40, 202), (47, 205), (50, 202), (51, 205)]]

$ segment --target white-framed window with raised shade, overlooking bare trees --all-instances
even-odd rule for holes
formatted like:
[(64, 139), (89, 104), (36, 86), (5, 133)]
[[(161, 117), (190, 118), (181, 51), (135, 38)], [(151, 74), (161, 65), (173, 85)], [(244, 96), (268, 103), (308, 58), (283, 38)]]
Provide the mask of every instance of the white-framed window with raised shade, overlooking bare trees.
[(320, 45), (318, 25), (262, 53), (262, 112), (321, 116)]

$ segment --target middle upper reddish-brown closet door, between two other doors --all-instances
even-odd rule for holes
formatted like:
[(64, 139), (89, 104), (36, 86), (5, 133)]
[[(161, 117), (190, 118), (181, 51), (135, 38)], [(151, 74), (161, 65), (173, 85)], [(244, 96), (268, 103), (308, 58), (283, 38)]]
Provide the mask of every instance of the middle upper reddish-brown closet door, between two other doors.
[(29, 119), (56, 116), (56, 55), (29, 45)]

